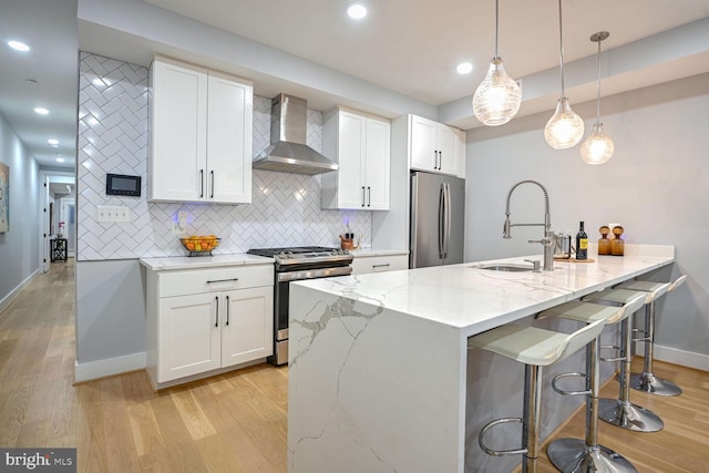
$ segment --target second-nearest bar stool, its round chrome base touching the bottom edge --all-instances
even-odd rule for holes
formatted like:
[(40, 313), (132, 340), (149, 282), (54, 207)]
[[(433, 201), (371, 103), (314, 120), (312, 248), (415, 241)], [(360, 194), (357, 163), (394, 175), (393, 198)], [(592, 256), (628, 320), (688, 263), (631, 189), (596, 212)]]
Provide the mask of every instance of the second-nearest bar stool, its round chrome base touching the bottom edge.
[[(545, 310), (537, 315), (538, 319), (558, 317), (593, 323), (604, 320), (605, 325), (614, 325), (629, 319), (645, 301), (640, 294), (621, 307), (604, 306), (593, 302), (571, 301)], [(554, 377), (552, 388), (563, 395), (586, 395), (586, 436), (585, 439), (558, 439), (549, 443), (546, 453), (559, 471), (572, 472), (636, 472), (633, 464), (623, 455), (598, 443), (598, 392), (600, 381), (600, 337), (586, 346), (586, 372), (562, 373)], [(563, 378), (586, 378), (585, 391), (565, 391), (557, 387)]]

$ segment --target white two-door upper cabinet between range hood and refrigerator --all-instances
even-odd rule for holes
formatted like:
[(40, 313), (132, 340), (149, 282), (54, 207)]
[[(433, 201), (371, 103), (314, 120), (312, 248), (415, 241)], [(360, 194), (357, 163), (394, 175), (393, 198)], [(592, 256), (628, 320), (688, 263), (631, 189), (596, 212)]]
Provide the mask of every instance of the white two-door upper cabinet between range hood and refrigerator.
[(391, 123), (345, 109), (325, 115), (322, 152), (339, 169), (322, 174), (322, 208), (388, 210)]

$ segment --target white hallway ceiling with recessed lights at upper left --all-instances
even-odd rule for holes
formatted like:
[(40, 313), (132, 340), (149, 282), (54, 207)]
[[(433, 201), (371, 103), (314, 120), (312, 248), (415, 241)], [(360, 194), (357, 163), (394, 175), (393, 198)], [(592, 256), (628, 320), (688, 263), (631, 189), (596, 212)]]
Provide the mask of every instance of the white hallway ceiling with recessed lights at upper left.
[[(10, 49), (7, 41), (11, 39), (28, 43), (32, 50), (20, 53)], [(76, 0), (2, 0), (0, 40), (0, 113), (40, 165), (74, 167)], [(38, 115), (35, 106), (48, 109), (49, 115)], [(49, 138), (59, 140), (59, 146), (50, 146)], [(64, 163), (56, 162), (58, 153)]]

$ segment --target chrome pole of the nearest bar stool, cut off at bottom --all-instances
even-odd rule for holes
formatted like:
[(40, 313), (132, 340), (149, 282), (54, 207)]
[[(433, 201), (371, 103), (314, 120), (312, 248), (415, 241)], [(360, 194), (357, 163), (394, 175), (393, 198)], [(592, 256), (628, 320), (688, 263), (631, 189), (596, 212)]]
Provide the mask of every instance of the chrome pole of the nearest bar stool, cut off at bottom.
[(542, 429), (542, 367), (525, 364), (524, 367), (524, 419), (522, 473), (536, 473), (540, 456), (540, 431)]

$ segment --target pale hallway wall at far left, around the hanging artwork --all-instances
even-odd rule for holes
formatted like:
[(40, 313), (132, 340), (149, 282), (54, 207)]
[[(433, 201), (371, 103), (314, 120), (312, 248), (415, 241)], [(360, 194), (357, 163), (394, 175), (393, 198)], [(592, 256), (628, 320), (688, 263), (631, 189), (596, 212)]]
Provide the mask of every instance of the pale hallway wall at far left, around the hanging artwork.
[(10, 168), (10, 228), (0, 234), (0, 311), (39, 268), (39, 165), (0, 115), (0, 163)]

